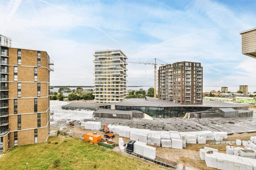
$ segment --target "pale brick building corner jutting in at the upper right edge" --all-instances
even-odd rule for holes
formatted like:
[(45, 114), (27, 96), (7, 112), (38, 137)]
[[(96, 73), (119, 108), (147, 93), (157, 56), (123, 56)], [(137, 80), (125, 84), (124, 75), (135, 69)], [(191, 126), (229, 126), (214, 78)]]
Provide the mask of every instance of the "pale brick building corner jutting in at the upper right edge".
[(256, 58), (256, 28), (240, 32), (242, 35), (242, 54)]

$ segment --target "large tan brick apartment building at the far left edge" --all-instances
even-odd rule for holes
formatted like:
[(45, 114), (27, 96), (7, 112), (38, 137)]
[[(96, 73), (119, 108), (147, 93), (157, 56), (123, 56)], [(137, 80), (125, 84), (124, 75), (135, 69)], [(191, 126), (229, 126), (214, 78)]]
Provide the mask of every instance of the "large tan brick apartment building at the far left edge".
[(0, 152), (47, 141), (49, 65), (47, 52), (11, 48), (0, 35)]

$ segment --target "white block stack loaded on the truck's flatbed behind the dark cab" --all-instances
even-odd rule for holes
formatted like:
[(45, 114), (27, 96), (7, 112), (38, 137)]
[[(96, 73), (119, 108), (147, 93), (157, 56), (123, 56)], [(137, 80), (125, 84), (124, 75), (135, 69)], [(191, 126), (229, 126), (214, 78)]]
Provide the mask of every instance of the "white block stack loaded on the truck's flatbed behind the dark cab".
[(140, 141), (135, 141), (134, 152), (150, 159), (155, 159), (156, 157), (156, 149), (154, 147), (147, 146), (146, 143)]

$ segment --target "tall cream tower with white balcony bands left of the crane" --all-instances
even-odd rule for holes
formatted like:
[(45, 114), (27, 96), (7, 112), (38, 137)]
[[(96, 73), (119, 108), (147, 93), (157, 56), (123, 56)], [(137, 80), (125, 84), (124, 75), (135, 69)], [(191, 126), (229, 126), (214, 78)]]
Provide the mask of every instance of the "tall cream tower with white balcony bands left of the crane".
[(120, 102), (126, 99), (126, 55), (120, 49), (95, 51), (94, 101)]

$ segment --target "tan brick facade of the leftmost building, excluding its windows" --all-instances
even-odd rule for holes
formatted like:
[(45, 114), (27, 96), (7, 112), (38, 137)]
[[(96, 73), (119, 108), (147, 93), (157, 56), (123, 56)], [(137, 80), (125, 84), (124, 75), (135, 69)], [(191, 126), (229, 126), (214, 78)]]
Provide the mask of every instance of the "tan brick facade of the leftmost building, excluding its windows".
[[(18, 146), (34, 144), (35, 129), (38, 130), (38, 143), (46, 141), (49, 134), (49, 56), (45, 51), (40, 51), (40, 66), (38, 66), (38, 51), (21, 49), (21, 64), (18, 65), (18, 49), (8, 50), (6, 100), (9, 132), (7, 130), (8, 133), (1, 136), (4, 141), (2, 152), (14, 146), (14, 132), (18, 132)], [(15, 67), (17, 72), (14, 71)], [(35, 68), (37, 68), (37, 81), (35, 81)], [(17, 79), (14, 79), (16, 75)], [(40, 96), (38, 96), (38, 83), (40, 83)], [(18, 96), (18, 93), (21, 95)], [(37, 99), (37, 110), (35, 110), (35, 99)], [(16, 114), (14, 114), (14, 100), (17, 100)], [(40, 113), (40, 127), (38, 127), (38, 113)], [(20, 130), (18, 130), (18, 115), (21, 116)]]

